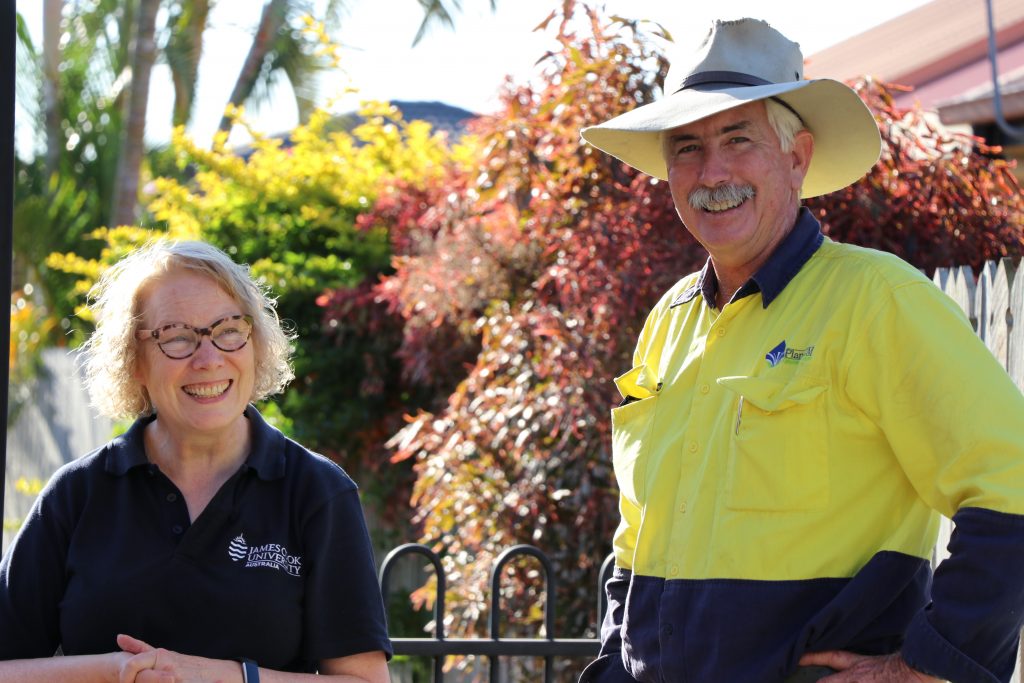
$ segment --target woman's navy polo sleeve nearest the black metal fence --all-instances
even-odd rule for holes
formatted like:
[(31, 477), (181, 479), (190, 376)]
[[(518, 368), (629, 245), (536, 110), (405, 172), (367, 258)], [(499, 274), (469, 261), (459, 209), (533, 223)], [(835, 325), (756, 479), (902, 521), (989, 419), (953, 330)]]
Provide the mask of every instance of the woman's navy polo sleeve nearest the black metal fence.
[(311, 558), (303, 655), (322, 661), (381, 650), (390, 659), (384, 601), (357, 489), (330, 499), (310, 517), (303, 536)]

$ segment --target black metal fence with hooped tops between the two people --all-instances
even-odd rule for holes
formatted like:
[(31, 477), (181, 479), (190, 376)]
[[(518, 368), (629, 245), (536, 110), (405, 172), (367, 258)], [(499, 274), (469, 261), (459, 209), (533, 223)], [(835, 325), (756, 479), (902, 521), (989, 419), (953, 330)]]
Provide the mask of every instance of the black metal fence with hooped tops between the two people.
[[(433, 658), (433, 681), (444, 681), (444, 658), (450, 655), (484, 656), (489, 663), (490, 683), (501, 681), (501, 657), (544, 657), (544, 681), (554, 681), (556, 657), (594, 657), (600, 648), (596, 638), (555, 638), (555, 595), (557, 593), (556, 575), (551, 560), (538, 548), (528, 545), (513, 546), (504, 551), (495, 560), (490, 570), (490, 612), (487, 628), (487, 638), (447, 638), (444, 635), (444, 593), (446, 583), (441, 567), (440, 557), (430, 548), (409, 543), (399, 546), (387, 554), (381, 564), (381, 592), (385, 601), (389, 595), (389, 578), (395, 562), (408, 555), (422, 555), (433, 567), (436, 577), (436, 595), (434, 599), (434, 635), (432, 638), (392, 638), (395, 654), (423, 656)], [(501, 578), (505, 566), (517, 557), (536, 558), (544, 569), (545, 601), (544, 629), (547, 638), (502, 638), (501, 611)], [(604, 614), (606, 598), (604, 584), (611, 574), (612, 556), (605, 558), (598, 574), (597, 583), (597, 613), (598, 618)]]

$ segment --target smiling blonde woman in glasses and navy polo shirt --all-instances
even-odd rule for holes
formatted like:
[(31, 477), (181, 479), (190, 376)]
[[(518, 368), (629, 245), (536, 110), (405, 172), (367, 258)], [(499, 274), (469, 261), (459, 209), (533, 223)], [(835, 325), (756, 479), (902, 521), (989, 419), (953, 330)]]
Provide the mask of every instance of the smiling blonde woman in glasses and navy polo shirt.
[(356, 486), (251, 404), (293, 377), (273, 302), (197, 242), (134, 252), (93, 301), (90, 396), (136, 420), (0, 563), (0, 681), (388, 681)]

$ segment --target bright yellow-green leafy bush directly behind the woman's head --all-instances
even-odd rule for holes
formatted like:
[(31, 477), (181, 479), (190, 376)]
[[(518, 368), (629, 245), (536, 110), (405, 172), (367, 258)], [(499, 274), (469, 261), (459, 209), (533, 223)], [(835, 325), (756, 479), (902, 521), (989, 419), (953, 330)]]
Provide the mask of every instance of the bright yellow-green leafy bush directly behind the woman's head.
[[(241, 110), (232, 114), (247, 126)], [(250, 129), (254, 141), (247, 155), (228, 148), (223, 133), (206, 150), (179, 128), (172, 146), (190, 176), (150, 183), (143, 199), (153, 227), (94, 230), (89, 237), (102, 245), (97, 258), (53, 253), (47, 266), (78, 275), (84, 302), (109, 264), (148, 240), (169, 237), (203, 239), (227, 250), (279, 294), (358, 282), (386, 264), (389, 254), (386, 236), (355, 232), (354, 217), (382, 187), (426, 183), (452, 163), (446, 141), (429, 124), (406, 122), (384, 102), (366, 103), (359, 116), (362, 123), (346, 132), (331, 130), (331, 115), (317, 111), (292, 131), (287, 147)], [(88, 319), (84, 307), (78, 313)]]

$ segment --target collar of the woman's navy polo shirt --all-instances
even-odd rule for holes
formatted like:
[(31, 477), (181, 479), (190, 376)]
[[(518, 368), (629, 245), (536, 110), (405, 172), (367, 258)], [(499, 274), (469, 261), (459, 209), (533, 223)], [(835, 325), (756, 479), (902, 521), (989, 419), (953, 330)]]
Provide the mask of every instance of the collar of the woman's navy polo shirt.
[[(253, 405), (244, 413), (252, 425), (252, 450), (243, 469), (252, 468), (266, 481), (285, 476), (285, 435), (263, 420)], [(145, 427), (157, 419), (156, 414), (136, 420), (124, 434), (111, 441), (105, 469), (114, 476), (123, 476), (136, 467), (148, 466), (145, 457)]]

